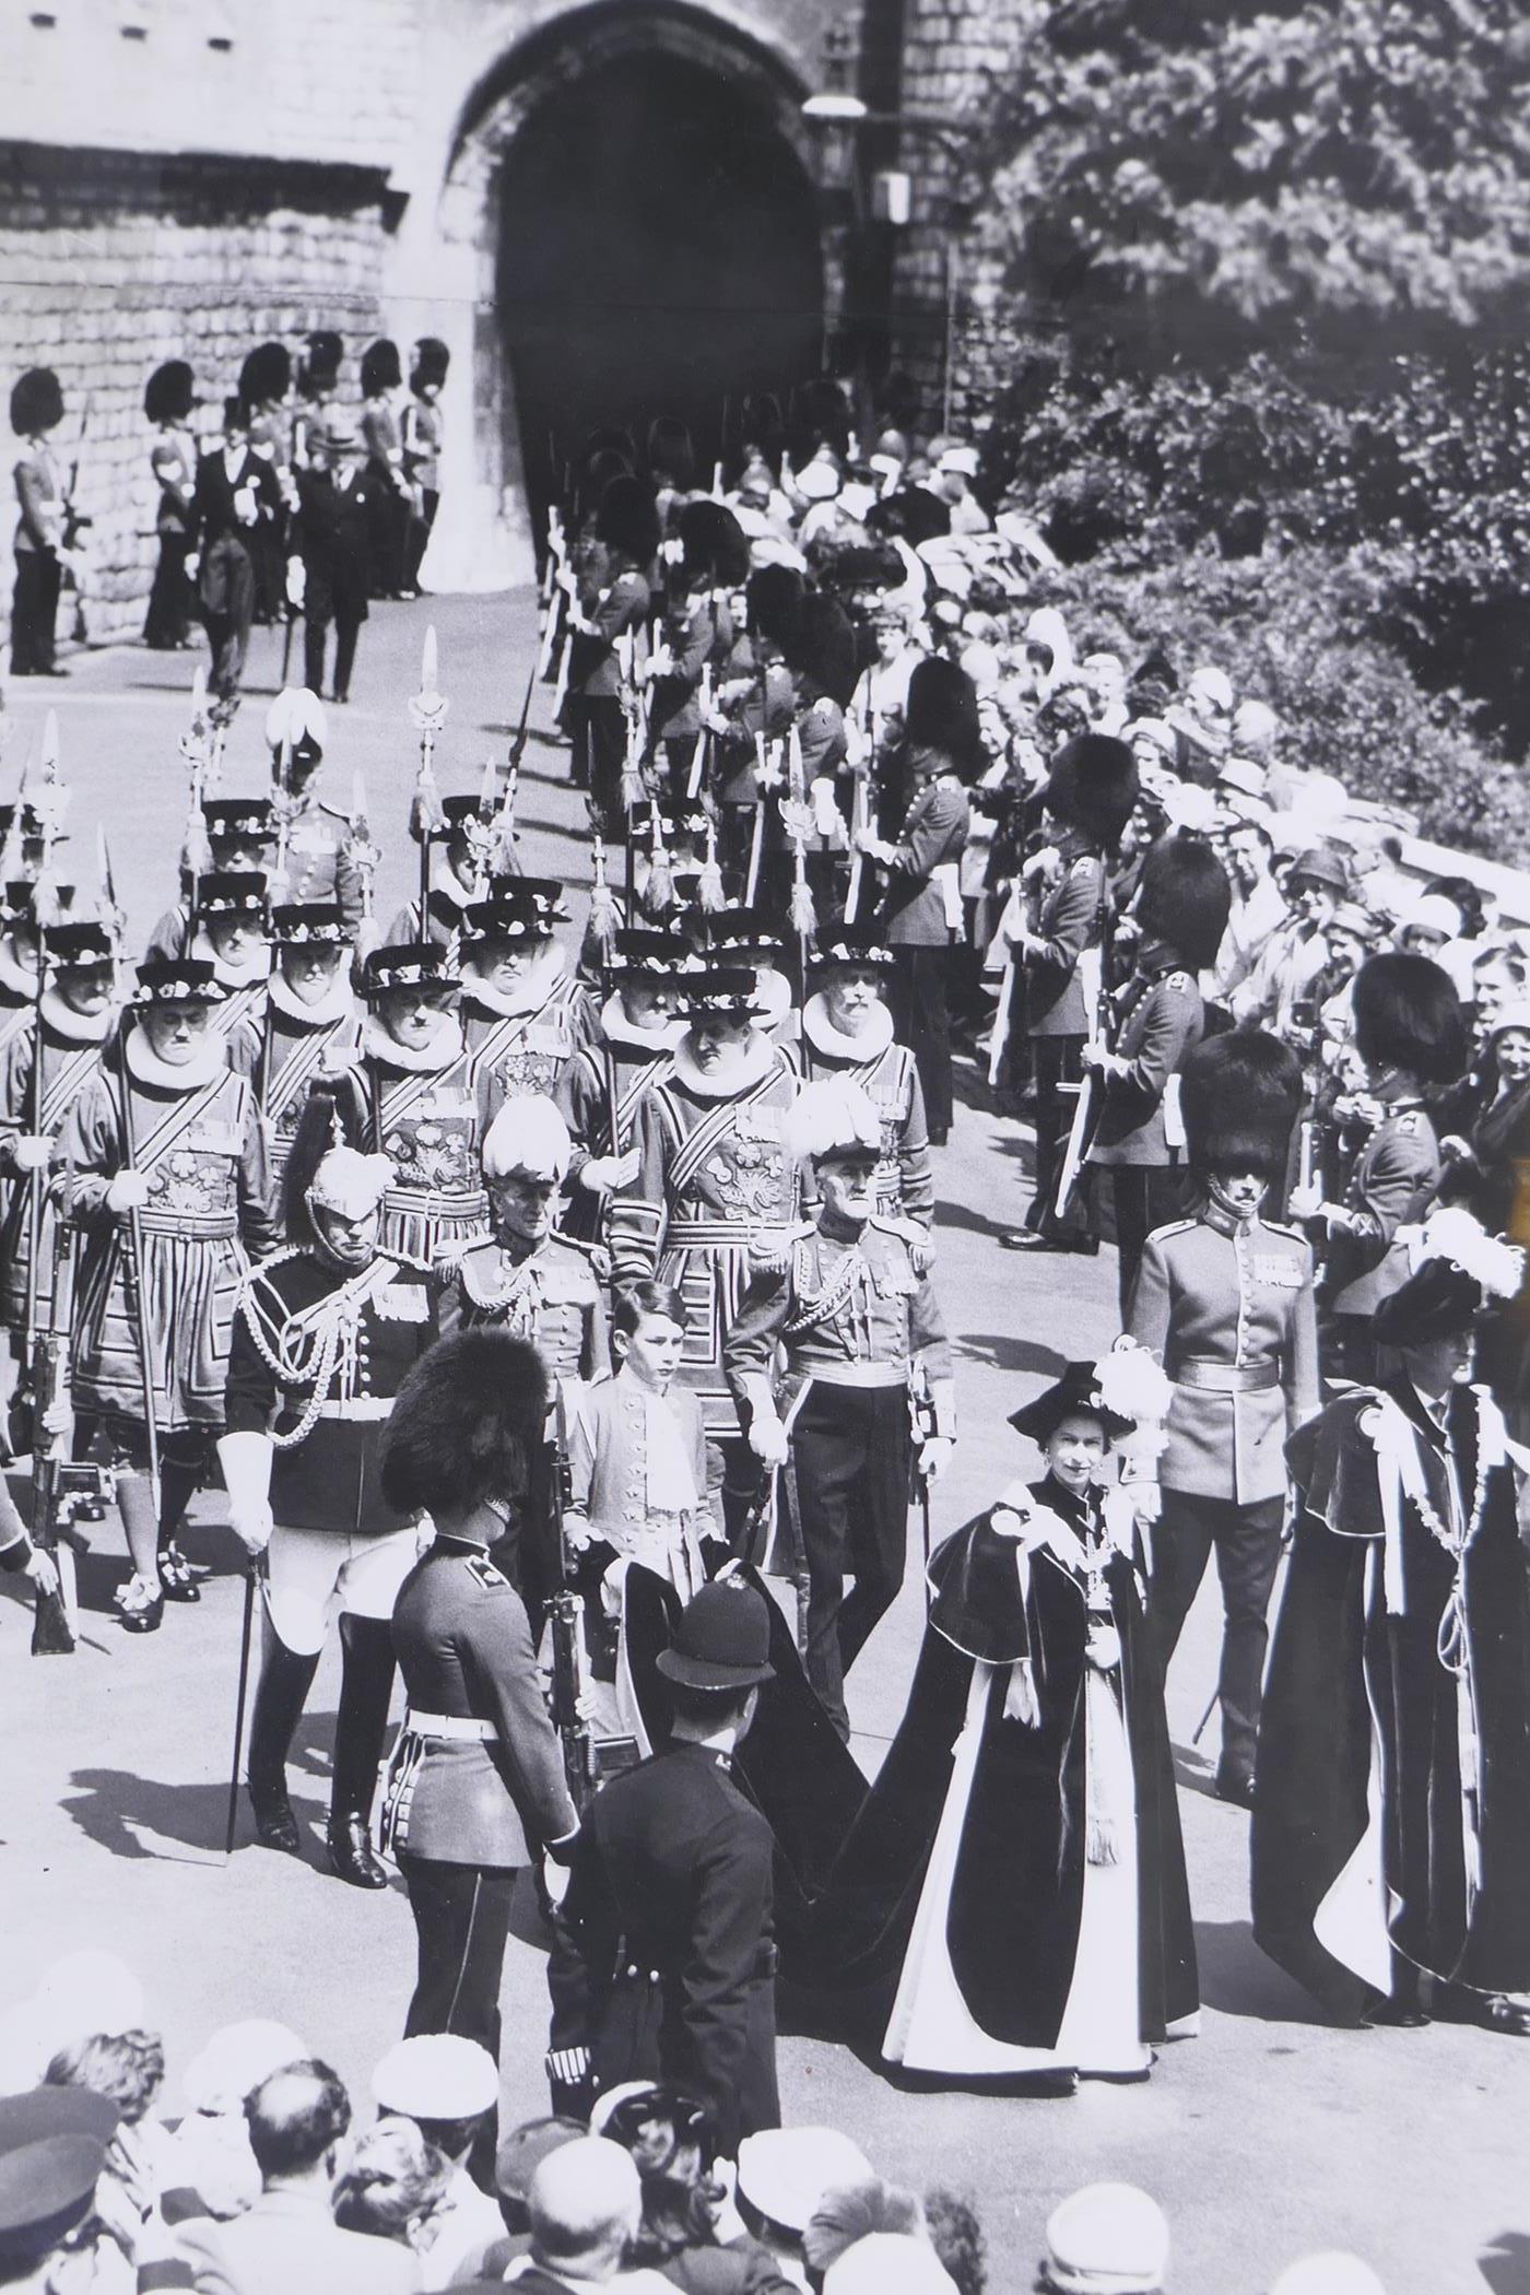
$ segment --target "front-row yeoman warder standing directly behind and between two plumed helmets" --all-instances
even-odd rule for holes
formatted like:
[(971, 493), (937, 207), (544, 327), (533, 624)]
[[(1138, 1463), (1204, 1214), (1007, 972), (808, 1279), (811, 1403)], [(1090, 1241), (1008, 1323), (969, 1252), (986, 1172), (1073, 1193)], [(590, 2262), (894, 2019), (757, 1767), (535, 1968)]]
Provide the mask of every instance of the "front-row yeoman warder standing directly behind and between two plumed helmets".
[(456, 1017), (456, 968), (434, 941), (374, 948), (360, 975), (369, 1019), (337, 1086), (346, 1138), (392, 1161), (383, 1251), (431, 1269), (489, 1232), (473, 1053)]

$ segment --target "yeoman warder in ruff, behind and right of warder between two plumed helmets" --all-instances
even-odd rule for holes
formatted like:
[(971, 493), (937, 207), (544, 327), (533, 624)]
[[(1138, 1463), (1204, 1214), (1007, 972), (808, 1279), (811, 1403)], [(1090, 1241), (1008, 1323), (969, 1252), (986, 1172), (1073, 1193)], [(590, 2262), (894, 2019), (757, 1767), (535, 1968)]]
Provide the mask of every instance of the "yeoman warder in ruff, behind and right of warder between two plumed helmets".
[(551, 877), (507, 877), (463, 909), (461, 1019), (486, 1120), (514, 1092), (555, 1092), (580, 1042), (583, 998), (555, 939), (564, 918)]

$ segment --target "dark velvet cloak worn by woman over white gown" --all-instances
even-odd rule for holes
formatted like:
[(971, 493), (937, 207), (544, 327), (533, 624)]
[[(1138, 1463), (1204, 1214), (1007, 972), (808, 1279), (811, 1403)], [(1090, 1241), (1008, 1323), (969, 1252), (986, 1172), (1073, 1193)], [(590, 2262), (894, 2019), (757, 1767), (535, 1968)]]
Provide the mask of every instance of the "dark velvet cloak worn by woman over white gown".
[[(1051, 1476), (1032, 1492), (1071, 1528), (1083, 1524), (1085, 1501)], [(931, 1618), (908, 1710), (817, 1905), (812, 1955), (789, 1974), (842, 1992), (897, 1985), (973, 1664), (1005, 1666), (1028, 1655), (1041, 1724), (1005, 1721), (1002, 1682), (993, 1682), (945, 1935), (973, 2020), (1016, 2047), (1053, 2047), (1074, 1978), (1085, 1880), (1085, 1590), (1037, 1547), (1030, 1600), (1021, 1602), (1016, 1545), (993, 1531), (991, 1515), (938, 1547), (929, 1581)], [(1106, 1565), (1106, 1588), (1135, 1774), (1142, 2038), (1161, 2040), (1197, 2008), (1174, 1765), (1163, 1678), (1124, 1554)]]

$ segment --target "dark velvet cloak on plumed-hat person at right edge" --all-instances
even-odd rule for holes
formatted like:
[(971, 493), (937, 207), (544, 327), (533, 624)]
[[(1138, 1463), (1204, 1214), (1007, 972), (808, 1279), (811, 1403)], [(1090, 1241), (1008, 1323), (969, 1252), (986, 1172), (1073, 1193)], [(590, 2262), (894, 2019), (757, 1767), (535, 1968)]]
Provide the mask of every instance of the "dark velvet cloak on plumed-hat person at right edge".
[[(1424, 1489), (1450, 1522), (1452, 1464), (1406, 1379), (1385, 1393), (1415, 1430)], [(1255, 1942), (1340, 2022), (1367, 1985), (1314, 1935), (1314, 1916), (1367, 1825), (1372, 1705), (1381, 1735), (1383, 1870), (1392, 1946), (1420, 1969), (1484, 1992), (1530, 1987), (1530, 1597), (1514, 1469), (1493, 1464), (1482, 1522), (1457, 1558), (1402, 1499), (1406, 1609), (1383, 1572), (1381, 1476), (1367, 1432), (1376, 1393), (1330, 1402), (1287, 1444), (1301, 1494), (1289, 1577), (1259, 1721), (1252, 1818)], [(1477, 1391), (1447, 1405), (1461, 1517), (1477, 1492)], [(1459, 1625), (1452, 1595), (1459, 1584)], [(1477, 1730), (1468, 1776), (1480, 1884), (1468, 1877), (1457, 1694), (1441, 1648), (1459, 1632)]]

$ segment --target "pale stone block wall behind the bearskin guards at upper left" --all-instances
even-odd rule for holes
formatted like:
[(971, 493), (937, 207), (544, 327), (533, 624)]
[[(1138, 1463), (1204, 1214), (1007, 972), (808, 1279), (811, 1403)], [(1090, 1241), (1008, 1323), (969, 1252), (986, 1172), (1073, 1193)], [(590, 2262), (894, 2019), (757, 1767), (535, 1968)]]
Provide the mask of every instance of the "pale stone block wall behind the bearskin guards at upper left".
[[(0, 376), (9, 395), (23, 367), (57, 369), (64, 466), (85, 415), (89, 643), (142, 629), (156, 558), (142, 411), (154, 367), (190, 360), (204, 399), (195, 422), (213, 434), (257, 342), (278, 335), (296, 349), (310, 328), (333, 326), (358, 395), (356, 358), (383, 330), (390, 220), (378, 168), (0, 145)], [(9, 425), (5, 445), (0, 645), (11, 610)], [(64, 638), (71, 606), (60, 606)]]

